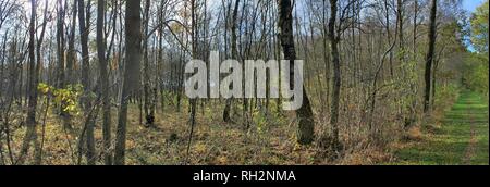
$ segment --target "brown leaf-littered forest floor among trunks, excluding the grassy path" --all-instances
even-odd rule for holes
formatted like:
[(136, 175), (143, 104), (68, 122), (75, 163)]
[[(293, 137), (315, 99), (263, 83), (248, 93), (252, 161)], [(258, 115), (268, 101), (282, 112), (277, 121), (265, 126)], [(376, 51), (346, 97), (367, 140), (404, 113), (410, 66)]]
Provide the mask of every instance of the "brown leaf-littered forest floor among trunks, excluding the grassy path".
[[(128, 165), (181, 165), (189, 164), (315, 164), (323, 160), (316, 157), (315, 147), (298, 146), (295, 140), (293, 123), (286, 116), (255, 117), (253, 123), (261, 124), (246, 128), (241, 119), (235, 123), (223, 123), (219, 111), (223, 109), (212, 103), (213, 108), (199, 109), (193, 134), (191, 149), (187, 154), (189, 124), (187, 103), (183, 103), (182, 112), (174, 107), (168, 107), (164, 112), (158, 110), (155, 125), (144, 127), (139, 124), (137, 105), (130, 105), (126, 164)], [(40, 107), (44, 109), (42, 107)], [(115, 134), (117, 111), (112, 111), (112, 134)], [(287, 114), (286, 114), (287, 115)], [(19, 117), (19, 119), (23, 119)], [(40, 116), (41, 119), (44, 116)], [(73, 119), (75, 132), (79, 132), (84, 116)], [(265, 125), (265, 121), (270, 124)], [(16, 123), (16, 122), (14, 122)], [(48, 165), (74, 164), (78, 134), (63, 130), (61, 120), (53, 112), (46, 119), (46, 135), (44, 139), (44, 162)], [(97, 164), (103, 164), (101, 157), (101, 117), (96, 123)], [(286, 124), (286, 125), (282, 125)], [(15, 128), (15, 127), (12, 127)], [(12, 139), (14, 157), (19, 153), (25, 128), (16, 130)], [(38, 134), (41, 135), (41, 127)], [(85, 157), (82, 158), (85, 163)]]

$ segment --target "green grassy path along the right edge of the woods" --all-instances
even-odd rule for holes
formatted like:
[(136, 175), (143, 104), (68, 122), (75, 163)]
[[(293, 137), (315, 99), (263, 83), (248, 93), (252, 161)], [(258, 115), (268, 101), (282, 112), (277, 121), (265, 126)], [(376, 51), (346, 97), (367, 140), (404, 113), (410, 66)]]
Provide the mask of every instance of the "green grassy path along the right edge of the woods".
[(488, 102), (478, 94), (465, 91), (445, 114), (441, 128), (421, 142), (395, 153), (394, 164), (488, 165)]

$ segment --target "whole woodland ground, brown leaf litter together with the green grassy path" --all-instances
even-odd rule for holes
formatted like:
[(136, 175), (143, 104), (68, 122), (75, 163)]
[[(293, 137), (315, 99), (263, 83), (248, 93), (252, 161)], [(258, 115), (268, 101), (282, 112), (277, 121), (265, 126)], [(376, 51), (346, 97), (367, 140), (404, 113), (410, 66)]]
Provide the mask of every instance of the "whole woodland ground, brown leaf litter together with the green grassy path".
[[(126, 164), (128, 165), (180, 165), (184, 162), (197, 165), (456, 165), (489, 164), (488, 101), (478, 94), (465, 91), (445, 115), (441, 114), (439, 125), (426, 125), (419, 138), (402, 142), (400, 147), (354, 149), (340, 161), (329, 161), (317, 146), (299, 146), (295, 140), (295, 127), (290, 114), (260, 115), (255, 111), (250, 120), (254, 125), (244, 126), (244, 119), (235, 115), (235, 123), (222, 123), (222, 104), (210, 102), (211, 108), (199, 109), (197, 124), (187, 153), (189, 124), (187, 103), (181, 111), (174, 107), (157, 110), (154, 127), (139, 124), (139, 112), (130, 105)], [(44, 103), (40, 109), (44, 109)], [(203, 110), (204, 109), (204, 110)], [(42, 111), (42, 110), (41, 110)], [(62, 128), (62, 122), (52, 110), (41, 120), (38, 135), (42, 139), (42, 164), (75, 164), (78, 134)], [(117, 111), (112, 113), (112, 134), (115, 134)], [(15, 119), (25, 119), (15, 113)], [(438, 114), (439, 116), (439, 114)], [(46, 117), (46, 119), (45, 119)], [(42, 121), (40, 121), (42, 122)], [(79, 132), (84, 116), (72, 120), (75, 132)], [(19, 124), (16, 120), (12, 122)], [(101, 117), (96, 122), (97, 164), (103, 164), (101, 157)], [(45, 127), (45, 133), (42, 133)], [(24, 127), (12, 136), (13, 157), (19, 155)], [(318, 130), (318, 129), (317, 129)], [(317, 132), (318, 133), (318, 132)], [(360, 142), (354, 139), (353, 142)], [(362, 144), (358, 144), (362, 145)], [(83, 163), (85, 163), (83, 157)]]

